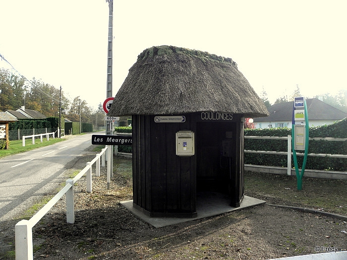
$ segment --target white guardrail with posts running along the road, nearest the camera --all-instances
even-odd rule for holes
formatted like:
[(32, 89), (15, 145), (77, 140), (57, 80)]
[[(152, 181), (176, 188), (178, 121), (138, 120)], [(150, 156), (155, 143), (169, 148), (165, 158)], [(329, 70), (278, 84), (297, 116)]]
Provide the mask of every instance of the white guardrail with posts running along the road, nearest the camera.
[[(66, 222), (73, 224), (75, 222), (75, 209), (74, 209), (74, 191), (73, 185), (77, 182), (85, 173), (87, 179), (87, 192), (92, 192), (92, 166), (96, 162), (96, 176), (100, 176), (100, 157), (101, 166), (105, 167), (106, 150), (109, 146), (106, 146), (101, 150), (99, 154), (92, 160), (87, 162), (87, 165), (81, 170), (73, 179), (66, 181), (65, 187), (62, 188), (56, 196), (54, 196), (43, 208), (41, 208), (35, 215), (29, 220), (20, 220), (15, 225), (15, 255), (16, 260), (33, 260), (33, 232), (32, 228), (40, 221), (40, 219), (60, 200), (60, 198), (66, 194)], [(107, 161), (111, 161), (112, 153), (109, 149), (107, 153)], [(108, 163), (109, 164), (109, 163)], [(110, 180), (111, 172), (109, 167), (107, 171), (107, 180)]]

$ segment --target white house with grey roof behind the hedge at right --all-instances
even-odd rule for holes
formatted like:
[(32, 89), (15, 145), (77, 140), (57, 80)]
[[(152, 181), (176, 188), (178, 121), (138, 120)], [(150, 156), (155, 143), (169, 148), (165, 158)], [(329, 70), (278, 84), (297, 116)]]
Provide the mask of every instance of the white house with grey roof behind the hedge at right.
[[(306, 105), (309, 126), (328, 125), (347, 117), (346, 112), (319, 99), (307, 99)], [(268, 108), (268, 111), (269, 116), (253, 119), (255, 128), (291, 128), (293, 102), (274, 104)]]

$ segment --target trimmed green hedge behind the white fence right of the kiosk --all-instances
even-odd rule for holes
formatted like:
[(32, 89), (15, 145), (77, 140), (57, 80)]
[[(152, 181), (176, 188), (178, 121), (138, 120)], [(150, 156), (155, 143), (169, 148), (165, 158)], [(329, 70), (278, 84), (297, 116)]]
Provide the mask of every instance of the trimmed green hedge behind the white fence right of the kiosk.
[[(309, 137), (347, 138), (347, 118), (331, 125), (309, 128)], [(287, 136), (289, 128), (245, 129), (245, 136)], [(287, 152), (287, 140), (245, 139), (245, 150)], [(340, 154), (347, 155), (347, 142), (310, 140), (308, 154)], [(302, 165), (303, 156), (297, 156), (298, 165)], [(245, 153), (245, 163), (287, 167), (287, 155), (264, 155)], [(292, 160), (292, 167), (293, 160)], [(308, 156), (307, 169), (347, 171), (346, 158)]]

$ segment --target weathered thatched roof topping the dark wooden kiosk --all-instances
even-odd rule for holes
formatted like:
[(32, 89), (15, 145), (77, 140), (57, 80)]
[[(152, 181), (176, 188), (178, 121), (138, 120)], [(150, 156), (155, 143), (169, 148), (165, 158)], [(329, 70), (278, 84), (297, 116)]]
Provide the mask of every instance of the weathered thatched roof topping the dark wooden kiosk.
[(143, 51), (116, 94), (110, 116), (268, 111), (231, 58), (173, 46)]

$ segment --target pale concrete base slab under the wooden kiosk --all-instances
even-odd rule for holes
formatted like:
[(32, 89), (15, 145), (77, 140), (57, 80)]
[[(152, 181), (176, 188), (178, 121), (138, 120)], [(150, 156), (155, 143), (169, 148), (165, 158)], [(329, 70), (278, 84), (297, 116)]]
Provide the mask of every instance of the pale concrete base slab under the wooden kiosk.
[(182, 217), (150, 217), (144, 214), (141, 210), (133, 207), (133, 201), (123, 201), (120, 204), (130, 210), (133, 214), (151, 224), (154, 227), (164, 227), (176, 223), (186, 222), (194, 219), (217, 216), (230, 211), (249, 208), (256, 205), (262, 205), (265, 201), (258, 200), (252, 197), (244, 196), (240, 207), (233, 208), (230, 204), (230, 198), (224, 194), (217, 192), (201, 192), (197, 194), (196, 211), (197, 216), (191, 218)]

